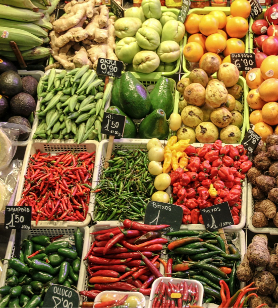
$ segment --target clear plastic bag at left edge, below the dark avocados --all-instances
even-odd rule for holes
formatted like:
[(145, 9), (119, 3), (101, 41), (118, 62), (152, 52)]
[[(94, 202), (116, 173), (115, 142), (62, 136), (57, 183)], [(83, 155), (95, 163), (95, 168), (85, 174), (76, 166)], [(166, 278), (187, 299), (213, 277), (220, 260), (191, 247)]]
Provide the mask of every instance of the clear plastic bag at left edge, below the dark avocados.
[(30, 132), (31, 129), (27, 126), (0, 122), (0, 171), (10, 164), (17, 149), (15, 142), (19, 135)]

